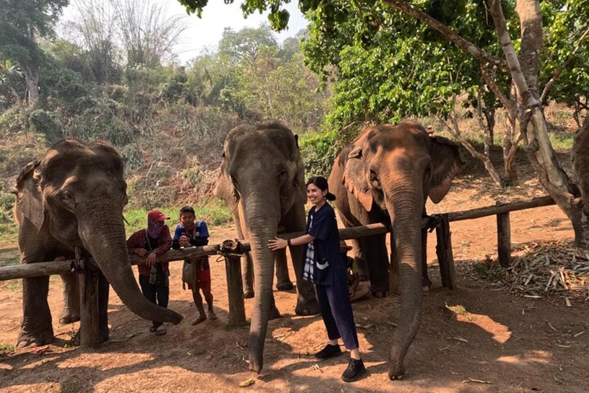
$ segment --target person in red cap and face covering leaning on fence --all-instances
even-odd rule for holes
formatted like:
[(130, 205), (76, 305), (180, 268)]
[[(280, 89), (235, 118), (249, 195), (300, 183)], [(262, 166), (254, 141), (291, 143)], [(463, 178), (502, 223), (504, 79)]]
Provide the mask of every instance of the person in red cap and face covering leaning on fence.
[[(143, 296), (163, 308), (168, 307), (170, 300), (170, 270), (168, 262), (155, 263), (155, 257), (167, 252), (172, 246), (170, 229), (164, 223), (168, 219), (170, 217), (160, 210), (151, 210), (147, 213), (147, 228), (138, 230), (127, 240), (130, 254), (147, 255), (147, 259), (137, 265)], [(150, 332), (161, 336), (166, 334), (166, 328), (163, 322), (154, 321)]]

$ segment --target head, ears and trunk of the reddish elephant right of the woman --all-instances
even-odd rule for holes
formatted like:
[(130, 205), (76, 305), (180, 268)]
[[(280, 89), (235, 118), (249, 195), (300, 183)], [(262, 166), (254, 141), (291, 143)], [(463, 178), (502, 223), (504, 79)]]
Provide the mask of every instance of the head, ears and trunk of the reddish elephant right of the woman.
[(404, 373), (403, 359), (421, 318), (421, 218), (429, 196), (438, 203), (462, 166), (458, 147), (429, 137), (418, 123), (368, 128), (348, 147), (343, 184), (366, 212), (382, 209), (391, 219), (401, 269), (399, 327), (389, 356), (389, 377)]

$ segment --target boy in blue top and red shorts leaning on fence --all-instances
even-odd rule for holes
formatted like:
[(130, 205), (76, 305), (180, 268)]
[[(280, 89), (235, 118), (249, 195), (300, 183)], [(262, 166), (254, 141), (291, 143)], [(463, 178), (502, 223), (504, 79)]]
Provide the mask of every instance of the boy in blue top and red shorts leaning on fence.
[[(174, 231), (174, 240), (172, 247), (206, 246), (209, 243), (209, 229), (204, 221), (196, 221), (194, 209), (190, 206), (184, 206), (180, 209), (180, 224)], [(202, 256), (184, 260), (182, 269), (182, 288), (184, 283), (188, 284), (188, 289), (192, 290), (194, 305), (198, 310), (198, 318), (192, 321), (197, 325), (207, 319), (204, 314), (203, 298), (198, 290), (203, 291), (204, 300), (207, 302), (209, 309), (209, 319), (217, 319), (213, 309), (213, 293), (211, 292), (211, 270), (209, 266), (209, 257)]]

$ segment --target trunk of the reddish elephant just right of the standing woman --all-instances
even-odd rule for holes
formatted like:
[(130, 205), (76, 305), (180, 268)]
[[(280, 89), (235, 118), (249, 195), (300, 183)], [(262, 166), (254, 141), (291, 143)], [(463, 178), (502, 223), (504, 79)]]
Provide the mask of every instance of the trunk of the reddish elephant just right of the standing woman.
[(393, 335), (389, 353), (389, 378), (405, 374), (403, 360), (419, 328), (422, 309), (421, 294), (421, 207), (423, 195), (419, 187), (399, 187), (386, 193), (386, 207), (400, 264), (401, 315)]

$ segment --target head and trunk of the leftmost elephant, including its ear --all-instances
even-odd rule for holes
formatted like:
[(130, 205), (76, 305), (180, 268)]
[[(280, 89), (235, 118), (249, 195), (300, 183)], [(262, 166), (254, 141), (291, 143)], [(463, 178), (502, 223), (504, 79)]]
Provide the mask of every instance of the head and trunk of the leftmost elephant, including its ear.
[(16, 219), (45, 227), (59, 243), (91, 253), (123, 303), (150, 321), (179, 323), (182, 316), (141, 294), (125, 243), (123, 160), (108, 144), (64, 140), (16, 180)]

